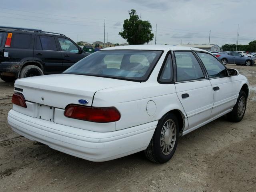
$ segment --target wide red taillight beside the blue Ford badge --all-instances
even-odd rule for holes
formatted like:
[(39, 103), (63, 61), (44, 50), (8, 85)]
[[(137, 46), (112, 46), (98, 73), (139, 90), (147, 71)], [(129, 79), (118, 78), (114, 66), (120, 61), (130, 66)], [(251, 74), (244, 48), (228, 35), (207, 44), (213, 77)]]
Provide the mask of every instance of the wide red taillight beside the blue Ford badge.
[(80, 105), (69, 105), (64, 115), (69, 118), (108, 123), (118, 121), (121, 117), (115, 107), (87, 107)]

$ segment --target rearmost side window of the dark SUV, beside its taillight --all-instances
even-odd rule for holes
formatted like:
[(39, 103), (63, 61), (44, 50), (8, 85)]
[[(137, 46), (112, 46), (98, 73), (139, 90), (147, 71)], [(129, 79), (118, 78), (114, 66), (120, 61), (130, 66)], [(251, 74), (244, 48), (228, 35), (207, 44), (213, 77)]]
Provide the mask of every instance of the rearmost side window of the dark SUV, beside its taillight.
[(13, 33), (11, 48), (22, 48), (28, 49), (31, 43), (32, 35), (22, 34), (22, 33)]

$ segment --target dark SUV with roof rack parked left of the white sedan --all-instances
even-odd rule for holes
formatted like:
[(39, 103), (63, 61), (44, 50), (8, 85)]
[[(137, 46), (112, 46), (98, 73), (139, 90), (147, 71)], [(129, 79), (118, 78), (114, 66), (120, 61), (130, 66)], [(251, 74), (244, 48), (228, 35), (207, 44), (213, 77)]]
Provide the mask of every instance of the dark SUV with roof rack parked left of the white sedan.
[(88, 56), (63, 34), (0, 26), (0, 78), (61, 73)]

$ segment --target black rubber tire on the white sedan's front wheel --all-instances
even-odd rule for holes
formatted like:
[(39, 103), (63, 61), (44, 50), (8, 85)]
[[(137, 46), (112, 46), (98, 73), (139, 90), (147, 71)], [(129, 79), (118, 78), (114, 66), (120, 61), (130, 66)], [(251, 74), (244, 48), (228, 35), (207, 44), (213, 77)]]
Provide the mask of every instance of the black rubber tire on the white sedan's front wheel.
[[(241, 108), (239, 107), (239, 102), (240, 102), (241, 98), (244, 98), (244, 110), (242, 112), (242, 115), (241, 114), (239, 115), (239, 111), (241, 111)], [(247, 96), (246, 96), (245, 92), (241, 90), (239, 92), (239, 96), (238, 96), (238, 99), (236, 101), (236, 104), (235, 104), (233, 110), (227, 114), (228, 120), (230, 120), (232, 122), (240, 122), (243, 119), (244, 113), (246, 110), (246, 103), (247, 103), (246, 99), (247, 99)]]

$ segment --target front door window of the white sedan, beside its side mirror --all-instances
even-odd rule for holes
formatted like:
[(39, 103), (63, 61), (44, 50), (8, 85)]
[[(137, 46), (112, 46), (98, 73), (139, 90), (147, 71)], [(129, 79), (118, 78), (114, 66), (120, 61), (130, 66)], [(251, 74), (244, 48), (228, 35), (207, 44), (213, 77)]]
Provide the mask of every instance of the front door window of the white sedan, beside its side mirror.
[(202, 60), (209, 78), (226, 77), (227, 71), (225, 66), (214, 56), (197, 52), (199, 58)]

